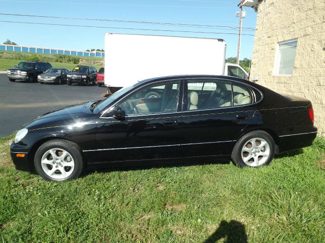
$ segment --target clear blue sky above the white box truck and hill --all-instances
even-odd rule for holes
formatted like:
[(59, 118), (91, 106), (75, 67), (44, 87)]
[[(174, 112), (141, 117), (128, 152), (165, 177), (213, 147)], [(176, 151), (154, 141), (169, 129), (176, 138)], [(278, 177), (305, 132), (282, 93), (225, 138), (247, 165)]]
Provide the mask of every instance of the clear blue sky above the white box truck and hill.
[[(238, 29), (234, 27), (238, 27), (239, 25), (239, 18), (235, 16), (236, 11), (239, 11), (237, 7), (238, 2), (239, 0), (0, 0), (0, 21), (109, 27), (94, 28), (0, 22), (0, 42), (3, 43), (7, 39), (10, 39), (19, 45), (86, 50), (91, 48), (104, 48), (105, 32), (157, 34), (164, 36), (221, 38), (227, 43), (226, 57), (237, 56)], [(247, 16), (243, 19), (243, 27), (255, 28), (256, 13), (250, 8), (247, 8), (246, 11)], [(205, 26), (197, 26), (194, 28), (183, 25), (40, 18), (1, 14), (180, 23)], [(196, 33), (175, 32), (179, 30), (196, 31)], [(252, 29), (243, 30), (245, 34), (254, 34)], [(225, 32), (235, 34), (222, 34)], [(244, 57), (251, 58), (253, 41), (253, 36), (242, 36), (241, 59)]]

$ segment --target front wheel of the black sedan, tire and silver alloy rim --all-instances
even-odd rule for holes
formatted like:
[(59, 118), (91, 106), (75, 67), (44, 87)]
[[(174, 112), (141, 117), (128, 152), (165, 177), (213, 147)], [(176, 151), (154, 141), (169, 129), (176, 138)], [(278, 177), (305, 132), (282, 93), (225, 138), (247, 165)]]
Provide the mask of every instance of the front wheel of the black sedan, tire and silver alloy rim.
[(34, 158), (35, 169), (47, 181), (77, 179), (83, 169), (81, 150), (66, 140), (51, 140), (42, 144)]

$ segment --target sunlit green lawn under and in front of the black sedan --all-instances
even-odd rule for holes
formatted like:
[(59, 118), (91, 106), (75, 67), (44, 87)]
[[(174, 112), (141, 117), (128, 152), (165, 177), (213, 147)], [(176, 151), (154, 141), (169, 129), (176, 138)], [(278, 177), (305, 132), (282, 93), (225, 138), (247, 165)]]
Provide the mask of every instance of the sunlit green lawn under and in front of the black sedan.
[(108, 169), (65, 183), (15, 170), (12, 138), (0, 140), (0, 242), (325, 242), (324, 138), (258, 169)]

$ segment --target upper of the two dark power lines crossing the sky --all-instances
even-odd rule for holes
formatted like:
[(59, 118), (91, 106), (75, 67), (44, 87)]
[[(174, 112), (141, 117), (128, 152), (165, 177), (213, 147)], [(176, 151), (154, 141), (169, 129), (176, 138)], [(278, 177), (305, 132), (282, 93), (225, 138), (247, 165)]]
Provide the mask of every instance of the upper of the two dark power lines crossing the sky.
[[(213, 28), (213, 29), (238, 29), (236, 26), (225, 26), (225, 25), (203, 25), (203, 24), (181, 24), (181, 23), (171, 23), (171, 22), (149, 22), (149, 21), (135, 21), (135, 20), (115, 20), (115, 19), (93, 19), (93, 18), (78, 18), (78, 17), (60, 17), (60, 16), (45, 16), (45, 15), (27, 15), (27, 14), (7, 14), (0, 13), (0, 15), (7, 16), (23, 16), (23, 17), (38, 17), (38, 18), (55, 18), (55, 19), (74, 19), (74, 20), (91, 20), (91, 21), (108, 21), (108, 22), (122, 22), (122, 23), (140, 23), (140, 24), (158, 24), (158, 25), (171, 25), (171, 26), (184, 26), (184, 27), (195, 27), (195, 28)], [(215, 28), (219, 27), (219, 28)], [(254, 31), (255, 28), (242, 27), (246, 31)]]

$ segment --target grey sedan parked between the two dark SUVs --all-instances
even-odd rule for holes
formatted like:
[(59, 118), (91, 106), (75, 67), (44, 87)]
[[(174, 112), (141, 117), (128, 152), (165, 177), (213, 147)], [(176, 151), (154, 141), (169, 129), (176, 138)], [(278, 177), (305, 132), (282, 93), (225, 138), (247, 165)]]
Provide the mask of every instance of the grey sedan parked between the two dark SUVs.
[(69, 71), (66, 68), (52, 67), (48, 69), (45, 73), (40, 74), (37, 77), (37, 81), (39, 81), (41, 84), (62, 84), (63, 82), (67, 82), (68, 73)]

